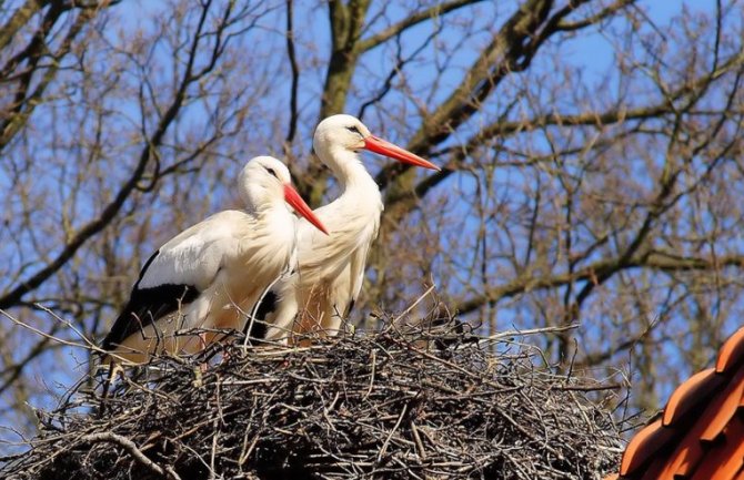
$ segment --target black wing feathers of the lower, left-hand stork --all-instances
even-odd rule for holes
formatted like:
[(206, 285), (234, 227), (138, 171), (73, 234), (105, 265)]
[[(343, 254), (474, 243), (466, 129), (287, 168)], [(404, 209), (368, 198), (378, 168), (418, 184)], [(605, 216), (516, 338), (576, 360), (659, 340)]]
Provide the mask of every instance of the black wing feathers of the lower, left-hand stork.
[(111, 331), (101, 344), (101, 348), (104, 350), (115, 349), (117, 345), (124, 341), (129, 336), (141, 331), (157, 319), (177, 312), (199, 296), (200, 292), (193, 285), (164, 284), (152, 288), (139, 287), (144, 273), (159, 253), (160, 251), (155, 252), (142, 267), (129, 302), (127, 302), (117, 321), (113, 323)]

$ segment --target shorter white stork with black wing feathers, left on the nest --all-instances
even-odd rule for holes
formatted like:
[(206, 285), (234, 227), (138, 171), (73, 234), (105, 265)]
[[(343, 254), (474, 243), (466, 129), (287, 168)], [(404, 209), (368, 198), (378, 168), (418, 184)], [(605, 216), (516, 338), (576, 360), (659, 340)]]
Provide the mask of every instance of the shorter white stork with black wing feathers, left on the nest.
[(199, 351), (211, 336), (194, 328), (241, 329), (265, 289), (296, 267), (296, 217), (323, 224), (291, 185), (286, 166), (252, 159), (238, 178), (244, 211), (210, 216), (165, 243), (140, 272), (102, 348), (141, 364), (154, 351)]

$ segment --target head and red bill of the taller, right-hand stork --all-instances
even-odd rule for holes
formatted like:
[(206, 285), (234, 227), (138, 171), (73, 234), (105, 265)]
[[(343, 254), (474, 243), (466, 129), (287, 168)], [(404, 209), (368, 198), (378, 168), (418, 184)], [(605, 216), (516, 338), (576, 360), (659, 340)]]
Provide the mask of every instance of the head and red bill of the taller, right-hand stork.
[(332, 156), (339, 156), (344, 151), (369, 150), (408, 165), (440, 170), (439, 166), (419, 155), (374, 136), (359, 119), (345, 114), (329, 116), (318, 124), (313, 147), (324, 162), (331, 161)]

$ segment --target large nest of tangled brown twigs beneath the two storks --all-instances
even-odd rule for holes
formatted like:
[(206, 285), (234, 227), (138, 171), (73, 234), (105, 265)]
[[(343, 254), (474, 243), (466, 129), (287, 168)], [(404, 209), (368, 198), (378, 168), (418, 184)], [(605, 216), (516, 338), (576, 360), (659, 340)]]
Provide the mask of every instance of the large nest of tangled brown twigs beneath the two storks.
[[(385, 329), (157, 358), (42, 416), (11, 479), (602, 479), (612, 389), (512, 339)], [(223, 347), (220, 347), (223, 348)], [(204, 364), (209, 367), (204, 371)], [(591, 398), (591, 399), (590, 399)], [(614, 400), (611, 400), (611, 402)]]

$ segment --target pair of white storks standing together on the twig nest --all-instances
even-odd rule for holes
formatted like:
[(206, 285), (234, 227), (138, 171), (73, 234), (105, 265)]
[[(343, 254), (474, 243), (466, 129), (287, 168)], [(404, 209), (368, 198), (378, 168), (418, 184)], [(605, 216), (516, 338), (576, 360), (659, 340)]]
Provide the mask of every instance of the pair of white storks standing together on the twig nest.
[(283, 163), (252, 159), (238, 180), (244, 210), (220, 212), (155, 252), (103, 349), (144, 362), (155, 351), (199, 351), (227, 329), (265, 326), (260, 336), (269, 340), (311, 330), (338, 334), (362, 288), (383, 210), (359, 151), (439, 168), (372, 135), (350, 115), (322, 121), (313, 149), (336, 176), (339, 198), (313, 212)]

